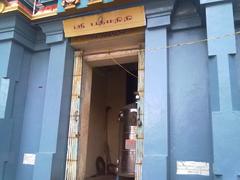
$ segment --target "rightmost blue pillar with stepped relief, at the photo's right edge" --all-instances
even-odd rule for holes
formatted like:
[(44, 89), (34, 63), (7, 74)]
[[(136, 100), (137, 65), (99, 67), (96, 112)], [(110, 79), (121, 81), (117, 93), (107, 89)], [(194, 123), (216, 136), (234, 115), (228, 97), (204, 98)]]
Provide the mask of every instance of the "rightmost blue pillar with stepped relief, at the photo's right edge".
[[(231, 57), (236, 54), (233, 5), (231, 1), (223, 0), (201, 0), (201, 4), (206, 5), (208, 38), (221, 37), (208, 42), (214, 173), (216, 179), (235, 180), (240, 173), (240, 113), (233, 111), (229, 66)], [(231, 35), (224, 37), (227, 34)]]

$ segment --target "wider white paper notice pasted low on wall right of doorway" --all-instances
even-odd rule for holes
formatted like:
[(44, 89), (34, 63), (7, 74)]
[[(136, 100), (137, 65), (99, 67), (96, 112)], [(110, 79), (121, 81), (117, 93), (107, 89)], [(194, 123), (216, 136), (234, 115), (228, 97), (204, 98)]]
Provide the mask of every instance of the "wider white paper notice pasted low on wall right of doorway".
[(209, 163), (196, 161), (177, 161), (177, 174), (209, 176)]

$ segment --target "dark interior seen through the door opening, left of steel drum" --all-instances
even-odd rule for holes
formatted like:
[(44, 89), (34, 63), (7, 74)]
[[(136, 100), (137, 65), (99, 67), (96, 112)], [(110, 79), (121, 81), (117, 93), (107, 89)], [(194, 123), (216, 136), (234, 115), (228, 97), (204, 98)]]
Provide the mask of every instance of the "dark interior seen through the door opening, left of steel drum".
[[(137, 76), (137, 63), (122, 66)], [(135, 103), (136, 91), (137, 78), (118, 65), (93, 68), (84, 179), (116, 179), (122, 143), (119, 113), (126, 105)]]

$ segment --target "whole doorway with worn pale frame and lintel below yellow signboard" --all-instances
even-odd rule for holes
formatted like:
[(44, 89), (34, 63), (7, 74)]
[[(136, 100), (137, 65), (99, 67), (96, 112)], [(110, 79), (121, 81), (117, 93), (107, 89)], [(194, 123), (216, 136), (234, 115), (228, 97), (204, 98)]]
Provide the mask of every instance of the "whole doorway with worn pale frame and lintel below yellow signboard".
[[(135, 135), (136, 173), (130, 178), (123, 176), (121, 179), (141, 179), (144, 50), (139, 49), (143, 42), (142, 31), (139, 32), (124, 34), (122, 37), (118, 35), (113, 40), (107, 38), (104, 41), (107, 42), (104, 44), (106, 47), (110, 47), (116, 39), (122, 41), (121, 44), (115, 43), (119, 46), (111, 51), (104, 50), (103, 46), (93, 52), (89, 51), (92, 42), (100, 43), (102, 39), (85, 39), (79, 44), (73, 41), (76, 48), (84, 49), (84, 53), (75, 52), (65, 180), (115, 180), (116, 175), (119, 175), (116, 170), (122, 143), (119, 139), (118, 115), (126, 105), (136, 102), (134, 92), (138, 92), (140, 97), (136, 104), (136, 114), (137, 120), (141, 122)], [(126, 37), (139, 43), (128, 46)]]

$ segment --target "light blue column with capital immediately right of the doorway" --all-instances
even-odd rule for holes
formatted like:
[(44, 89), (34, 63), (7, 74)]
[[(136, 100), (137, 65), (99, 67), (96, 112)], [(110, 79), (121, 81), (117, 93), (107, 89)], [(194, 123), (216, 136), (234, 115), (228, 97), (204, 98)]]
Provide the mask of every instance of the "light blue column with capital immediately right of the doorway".
[[(156, 7), (167, 9), (161, 12)], [(143, 180), (168, 179), (168, 59), (167, 26), (173, 3), (147, 6), (145, 32)]]

